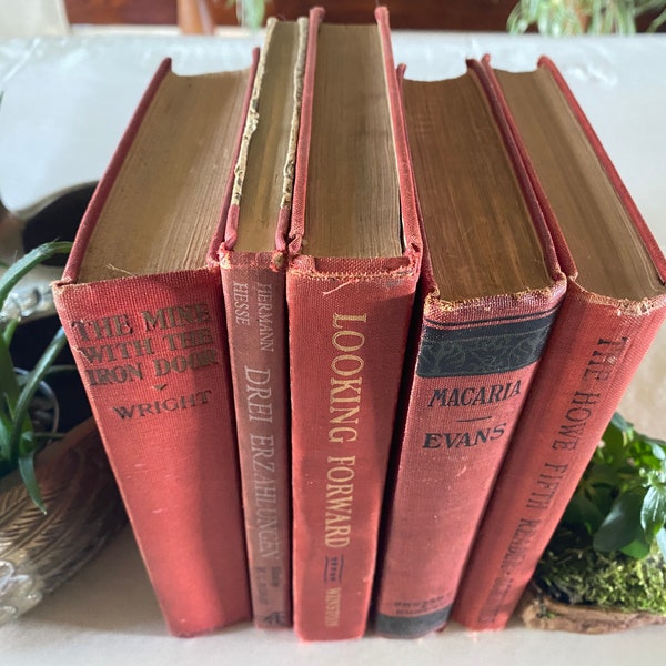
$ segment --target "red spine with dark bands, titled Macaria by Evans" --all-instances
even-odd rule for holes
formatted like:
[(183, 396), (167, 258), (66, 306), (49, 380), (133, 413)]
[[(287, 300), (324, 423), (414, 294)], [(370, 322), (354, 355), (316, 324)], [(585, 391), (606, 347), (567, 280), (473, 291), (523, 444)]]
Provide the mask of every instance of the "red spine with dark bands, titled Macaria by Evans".
[(380, 634), (416, 637), (446, 624), (563, 293), (559, 284), (513, 305), (454, 309), (426, 300), (387, 493)]

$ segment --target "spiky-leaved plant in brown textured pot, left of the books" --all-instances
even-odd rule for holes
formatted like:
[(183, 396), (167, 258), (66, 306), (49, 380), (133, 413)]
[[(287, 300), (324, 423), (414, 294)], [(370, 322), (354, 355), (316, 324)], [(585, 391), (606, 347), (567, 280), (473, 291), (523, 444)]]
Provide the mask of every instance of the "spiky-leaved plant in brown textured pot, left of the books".
[[(21, 278), (70, 246), (46, 243), (10, 265), (0, 276), (0, 311)], [(9, 317), (0, 330), (0, 625), (34, 606), (125, 523), (94, 421), (54, 432), (59, 406), (44, 380), (64, 370), (78, 379), (56, 364), (67, 345), (62, 330), (21, 372), (10, 352), (20, 327)], [(36, 403), (40, 392), (46, 404)]]

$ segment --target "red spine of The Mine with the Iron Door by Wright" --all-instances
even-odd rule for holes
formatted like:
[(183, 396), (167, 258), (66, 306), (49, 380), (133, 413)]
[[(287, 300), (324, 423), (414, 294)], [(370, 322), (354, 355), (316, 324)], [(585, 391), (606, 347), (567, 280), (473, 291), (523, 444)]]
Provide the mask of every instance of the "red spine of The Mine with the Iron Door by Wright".
[(219, 270), (59, 283), (54, 301), (169, 629), (249, 619)]

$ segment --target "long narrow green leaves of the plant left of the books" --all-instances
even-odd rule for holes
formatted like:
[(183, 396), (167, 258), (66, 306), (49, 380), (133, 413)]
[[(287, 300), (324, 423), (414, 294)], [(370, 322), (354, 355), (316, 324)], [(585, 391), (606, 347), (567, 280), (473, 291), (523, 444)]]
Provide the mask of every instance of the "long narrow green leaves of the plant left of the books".
[[(70, 242), (51, 242), (36, 248), (11, 264), (0, 276), (0, 311), (19, 280), (54, 254), (67, 254)], [(19, 322), (10, 320), (0, 334), (0, 477), (19, 470), (32, 501), (46, 513), (34, 475), (34, 456), (43, 444), (42, 433), (30, 417), (30, 405), (44, 377), (62, 370), (53, 363), (67, 344), (60, 329), (36, 366), (23, 377), (16, 372), (10, 344)]]

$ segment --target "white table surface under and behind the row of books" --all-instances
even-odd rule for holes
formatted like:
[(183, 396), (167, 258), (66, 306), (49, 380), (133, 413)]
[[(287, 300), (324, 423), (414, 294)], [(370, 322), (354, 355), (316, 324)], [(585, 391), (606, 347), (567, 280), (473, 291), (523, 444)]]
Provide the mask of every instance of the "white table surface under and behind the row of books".
[[(158, 62), (195, 73), (244, 67), (261, 33), (215, 38), (160, 32), (0, 41), (0, 196), (24, 213), (59, 190), (97, 180)], [(639, 210), (666, 248), (666, 36), (545, 39), (492, 33), (396, 32), (407, 75), (464, 71), (488, 52), (497, 67), (531, 69), (553, 58), (588, 114)], [(666, 333), (622, 403), (640, 430), (666, 438)], [(606, 636), (455, 625), (417, 640), (366, 637), (300, 644), (291, 632), (250, 625), (195, 639), (168, 635), (132, 535), (121, 534), (74, 579), (18, 622), (0, 627), (2, 666), (107, 664), (663, 664), (666, 627)]]

